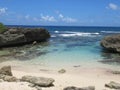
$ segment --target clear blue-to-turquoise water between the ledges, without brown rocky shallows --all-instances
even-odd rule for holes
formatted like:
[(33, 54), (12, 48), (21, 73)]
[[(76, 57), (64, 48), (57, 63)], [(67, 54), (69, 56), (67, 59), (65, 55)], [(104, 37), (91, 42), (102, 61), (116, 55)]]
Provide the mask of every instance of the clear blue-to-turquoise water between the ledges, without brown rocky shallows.
[[(12, 26), (15, 27), (15, 26)], [(20, 26), (19, 26), (20, 27)], [(120, 33), (120, 27), (77, 27), (77, 26), (22, 26), (46, 28), (51, 38), (37, 52), (46, 52), (32, 59), (34, 65), (95, 65), (98, 61), (115, 56), (106, 53), (100, 46), (100, 40), (112, 34)], [(45, 46), (44, 46), (45, 45)], [(100, 63), (100, 62), (99, 62)], [(101, 65), (101, 64), (100, 64)], [(117, 64), (112, 63), (115, 66)]]

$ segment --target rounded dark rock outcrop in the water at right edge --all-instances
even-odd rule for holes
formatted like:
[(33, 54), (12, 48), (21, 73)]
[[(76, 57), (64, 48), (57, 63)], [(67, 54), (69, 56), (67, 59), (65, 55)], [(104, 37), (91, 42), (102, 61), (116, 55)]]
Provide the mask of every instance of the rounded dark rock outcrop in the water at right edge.
[(103, 38), (100, 44), (105, 50), (109, 52), (120, 53), (120, 34), (106, 36)]

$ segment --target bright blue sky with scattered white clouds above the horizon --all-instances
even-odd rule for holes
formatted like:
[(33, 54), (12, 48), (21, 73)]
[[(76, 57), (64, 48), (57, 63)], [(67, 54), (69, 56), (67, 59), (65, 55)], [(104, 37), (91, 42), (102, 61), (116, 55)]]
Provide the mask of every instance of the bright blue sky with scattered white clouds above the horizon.
[(0, 0), (9, 25), (120, 26), (120, 0)]

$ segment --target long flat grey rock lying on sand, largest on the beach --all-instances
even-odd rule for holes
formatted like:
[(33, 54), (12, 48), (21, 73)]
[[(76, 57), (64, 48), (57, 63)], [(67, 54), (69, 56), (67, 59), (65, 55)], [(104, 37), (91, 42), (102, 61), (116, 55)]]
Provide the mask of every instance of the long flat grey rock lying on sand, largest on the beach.
[(53, 85), (55, 81), (52, 78), (44, 78), (44, 77), (35, 77), (35, 76), (23, 76), (21, 81), (30, 82), (35, 85), (39, 85), (41, 87), (49, 87)]

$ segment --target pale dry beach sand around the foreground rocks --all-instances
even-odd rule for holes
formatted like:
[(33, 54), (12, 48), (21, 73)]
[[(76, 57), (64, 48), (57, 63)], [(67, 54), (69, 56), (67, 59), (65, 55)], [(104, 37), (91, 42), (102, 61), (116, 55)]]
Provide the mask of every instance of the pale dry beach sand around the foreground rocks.
[[(42, 70), (39, 72), (18, 71), (12, 70), (13, 75), (21, 78), (23, 75), (42, 76), (55, 79), (54, 86), (49, 88), (42, 88), (42, 90), (63, 90), (67, 86), (87, 87), (95, 86), (95, 90), (110, 90), (105, 88), (105, 83), (110, 81), (120, 82), (120, 75), (113, 75), (106, 72), (104, 68), (69, 68), (66, 73), (60, 74), (57, 70)], [(0, 90), (35, 90), (35, 88), (28, 87), (28, 83), (0, 83)]]

